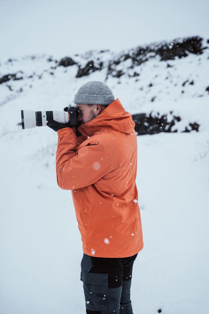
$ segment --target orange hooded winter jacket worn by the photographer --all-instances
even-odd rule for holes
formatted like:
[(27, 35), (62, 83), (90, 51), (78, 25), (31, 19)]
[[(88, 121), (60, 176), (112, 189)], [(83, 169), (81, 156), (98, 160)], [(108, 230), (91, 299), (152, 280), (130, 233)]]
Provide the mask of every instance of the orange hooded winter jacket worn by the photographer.
[(134, 125), (116, 99), (79, 127), (78, 138), (72, 128), (57, 131), (57, 183), (72, 190), (87, 255), (128, 257), (143, 248)]

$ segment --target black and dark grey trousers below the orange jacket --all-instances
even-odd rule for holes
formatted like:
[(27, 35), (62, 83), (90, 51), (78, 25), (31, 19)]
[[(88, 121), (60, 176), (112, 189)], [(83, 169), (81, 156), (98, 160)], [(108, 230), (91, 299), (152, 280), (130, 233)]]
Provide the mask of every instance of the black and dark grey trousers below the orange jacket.
[(81, 281), (87, 314), (133, 314), (130, 289), (137, 255), (106, 258), (83, 254)]

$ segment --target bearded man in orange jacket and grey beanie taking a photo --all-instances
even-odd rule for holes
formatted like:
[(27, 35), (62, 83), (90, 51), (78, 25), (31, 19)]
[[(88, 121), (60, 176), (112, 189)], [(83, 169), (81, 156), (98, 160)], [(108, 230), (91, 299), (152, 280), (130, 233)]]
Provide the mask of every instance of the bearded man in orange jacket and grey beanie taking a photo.
[[(72, 191), (83, 242), (81, 280), (87, 314), (133, 314), (133, 262), (143, 248), (134, 122), (111, 89), (91, 81), (78, 90), (76, 130), (57, 131), (57, 183)], [(77, 134), (77, 136), (76, 136)]]

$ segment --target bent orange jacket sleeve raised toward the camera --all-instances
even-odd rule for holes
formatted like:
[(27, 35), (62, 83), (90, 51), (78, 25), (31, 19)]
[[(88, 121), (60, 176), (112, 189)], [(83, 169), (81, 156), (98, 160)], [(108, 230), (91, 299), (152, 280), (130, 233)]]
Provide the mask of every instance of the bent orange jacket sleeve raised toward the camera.
[[(109, 150), (102, 142), (89, 141), (78, 147), (73, 129), (57, 131), (57, 183), (63, 190), (75, 190), (97, 182), (111, 171)], [(77, 151), (77, 153), (76, 153)]]

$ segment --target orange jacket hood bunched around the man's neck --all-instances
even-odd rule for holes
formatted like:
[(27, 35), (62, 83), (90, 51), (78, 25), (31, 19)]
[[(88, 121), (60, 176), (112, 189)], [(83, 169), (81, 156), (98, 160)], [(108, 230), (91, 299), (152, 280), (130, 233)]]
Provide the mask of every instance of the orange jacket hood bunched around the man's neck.
[(92, 136), (101, 127), (111, 127), (122, 133), (133, 133), (135, 122), (129, 112), (125, 111), (120, 100), (117, 98), (102, 113), (91, 120), (83, 123), (78, 131), (85, 136)]

